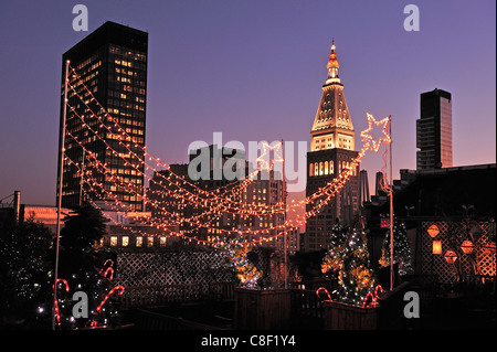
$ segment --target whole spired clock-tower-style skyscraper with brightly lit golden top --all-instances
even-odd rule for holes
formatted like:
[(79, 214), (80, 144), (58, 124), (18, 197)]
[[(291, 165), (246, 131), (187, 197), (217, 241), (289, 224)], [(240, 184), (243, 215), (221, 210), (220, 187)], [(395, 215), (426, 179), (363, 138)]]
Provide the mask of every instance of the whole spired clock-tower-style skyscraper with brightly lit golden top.
[[(328, 61), (328, 77), (322, 86), (322, 95), (310, 131), (310, 151), (307, 152), (307, 186), (309, 196), (349, 167), (358, 156), (355, 151), (356, 131), (343, 96), (343, 84), (338, 76), (335, 40)], [(321, 212), (307, 220), (304, 250), (327, 248), (332, 227), (338, 220), (341, 225), (350, 225), (359, 210), (359, 164), (346, 186), (336, 194)], [(308, 204), (310, 210), (314, 204)]]

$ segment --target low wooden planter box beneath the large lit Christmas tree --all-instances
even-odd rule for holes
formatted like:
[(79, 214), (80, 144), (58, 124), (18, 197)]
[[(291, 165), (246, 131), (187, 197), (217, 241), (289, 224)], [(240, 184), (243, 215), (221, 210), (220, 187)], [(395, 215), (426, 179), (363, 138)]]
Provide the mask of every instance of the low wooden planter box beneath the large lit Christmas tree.
[(325, 330), (376, 330), (379, 308), (325, 302)]

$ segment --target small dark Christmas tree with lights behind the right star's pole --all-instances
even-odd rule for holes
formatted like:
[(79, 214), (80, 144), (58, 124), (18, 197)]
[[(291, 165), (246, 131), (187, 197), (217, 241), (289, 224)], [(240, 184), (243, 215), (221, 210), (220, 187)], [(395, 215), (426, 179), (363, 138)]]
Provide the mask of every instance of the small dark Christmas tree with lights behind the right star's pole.
[[(390, 266), (390, 232), (387, 232), (381, 248), (380, 266)], [(393, 225), (393, 263), (399, 264), (399, 274), (405, 275), (412, 271), (411, 247), (408, 241), (408, 231), (404, 223)]]

